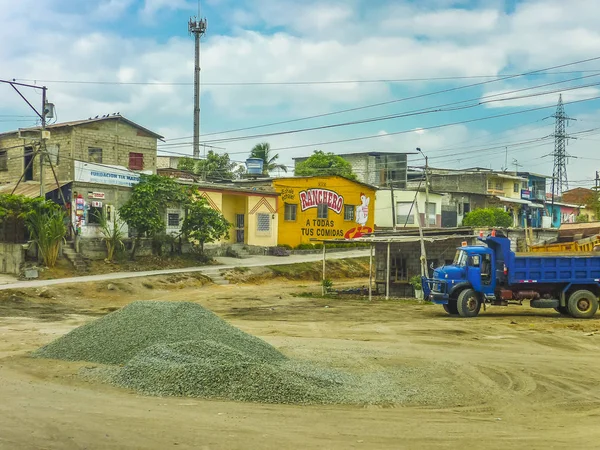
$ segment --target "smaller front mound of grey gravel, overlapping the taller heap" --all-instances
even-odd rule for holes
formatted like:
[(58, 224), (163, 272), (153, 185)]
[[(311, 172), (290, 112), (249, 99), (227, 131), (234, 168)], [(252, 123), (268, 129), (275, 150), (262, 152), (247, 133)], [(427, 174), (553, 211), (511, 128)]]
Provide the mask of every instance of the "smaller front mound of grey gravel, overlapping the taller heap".
[(158, 344), (142, 350), (107, 381), (148, 395), (223, 398), (263, 403), (336, 403), (342, 375), (294, 362), (264, 362), (211, 340)]

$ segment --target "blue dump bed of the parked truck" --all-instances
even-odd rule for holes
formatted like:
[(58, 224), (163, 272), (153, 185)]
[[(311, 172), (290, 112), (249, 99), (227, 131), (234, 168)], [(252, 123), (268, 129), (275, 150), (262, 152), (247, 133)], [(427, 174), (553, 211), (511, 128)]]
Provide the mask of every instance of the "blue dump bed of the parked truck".
[(600, 254), (589, 253), (516, 253), (510, 265), (508, 281), (521, 283), (600, 282)]

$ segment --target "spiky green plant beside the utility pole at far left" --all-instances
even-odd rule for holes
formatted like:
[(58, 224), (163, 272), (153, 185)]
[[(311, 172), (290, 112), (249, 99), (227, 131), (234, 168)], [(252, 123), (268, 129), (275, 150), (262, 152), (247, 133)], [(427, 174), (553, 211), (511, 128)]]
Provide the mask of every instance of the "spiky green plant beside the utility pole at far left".
[(25, 225), (31, 239), (37, 244), (47, 267), (54, 267), (58, 259), (60, 244), (67, 234), (65, 214), (59, 208), (34, 207), (25, 217)]

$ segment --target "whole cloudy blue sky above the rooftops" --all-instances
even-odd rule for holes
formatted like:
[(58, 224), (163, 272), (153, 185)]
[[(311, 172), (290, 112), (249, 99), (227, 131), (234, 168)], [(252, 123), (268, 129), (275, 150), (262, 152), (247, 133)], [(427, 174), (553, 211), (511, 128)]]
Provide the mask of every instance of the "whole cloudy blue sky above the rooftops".
[[(48, 86), (59, 121), (120, 112), (164, 135), (164, 154), (191, 154), (197, 12), (190, 0), (0, 0), (0, 79)], [(316, 149), (420, 147), (436, 167), (551, 175), (562, 92), (577, 119), (571, 186), (600, 169), (597, 0), (202, 0), (201, 14), (201, 140), (232, 159), (262, 141), (290, 165)], [(0, 84), (0, 130), (34, 123)]]

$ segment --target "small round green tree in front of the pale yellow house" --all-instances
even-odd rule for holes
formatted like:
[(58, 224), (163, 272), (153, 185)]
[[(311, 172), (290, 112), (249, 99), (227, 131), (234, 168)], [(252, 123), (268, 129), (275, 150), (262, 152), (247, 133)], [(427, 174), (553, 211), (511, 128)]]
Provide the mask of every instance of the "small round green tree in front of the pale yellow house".
[(229, 228), (231, 224), (223, 214), (212, 209), (204, 198), (197, 197), (188, 204), (181, 233), (203, 255), (204, 244), (229, 238)]

